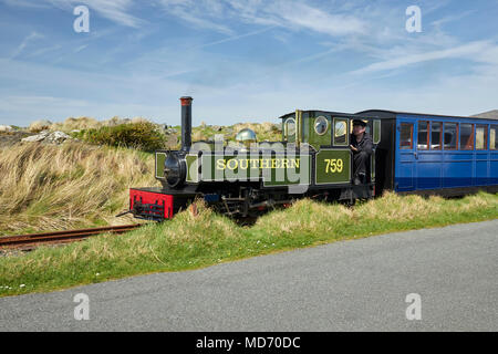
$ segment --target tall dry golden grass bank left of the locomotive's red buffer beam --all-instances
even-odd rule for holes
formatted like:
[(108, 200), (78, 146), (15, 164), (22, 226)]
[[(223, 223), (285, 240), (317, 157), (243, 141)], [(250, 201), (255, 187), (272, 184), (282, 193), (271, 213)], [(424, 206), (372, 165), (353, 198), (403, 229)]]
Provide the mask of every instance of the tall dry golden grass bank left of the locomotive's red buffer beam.
[(0, 149), (0, 235), (132, 222), (129, 187), (156, 184), (154, 157), (128, 149), (27, 144)]

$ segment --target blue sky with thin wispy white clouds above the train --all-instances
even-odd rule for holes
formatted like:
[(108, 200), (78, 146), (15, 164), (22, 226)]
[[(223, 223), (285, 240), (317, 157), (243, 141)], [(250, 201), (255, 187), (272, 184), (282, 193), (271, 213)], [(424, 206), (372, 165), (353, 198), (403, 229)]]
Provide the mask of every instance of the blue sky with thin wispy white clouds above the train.
[[(77, 6), (90, 32), (76, 33)], [(406, 9), (422, 10), (408, 33)], [(0, 0), (0, 124), (498, 108), (498, 0)]]

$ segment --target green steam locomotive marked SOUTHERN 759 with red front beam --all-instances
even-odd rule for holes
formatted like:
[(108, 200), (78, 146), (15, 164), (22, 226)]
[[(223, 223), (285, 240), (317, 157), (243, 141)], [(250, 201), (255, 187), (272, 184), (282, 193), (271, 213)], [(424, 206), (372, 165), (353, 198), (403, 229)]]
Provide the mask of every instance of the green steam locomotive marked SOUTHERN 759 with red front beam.
[[(238, 145), (191, 142), (191, 97), (181, 97), (181, 148), (157, 150), (155, 177), (162, 188), (132, 188), (129, 210), (137, 218), (164, 220), (204, 199), (232, 217), (257, 216), (269, 208), (311, 197), (367, 199), (375, 195), (375, 147), (381, 121), (323, 111), (295, 111), (280, 117), (281, 142), (258, 143), (243, 129)], [(366, 180), (352, 184), (352, 121), (366, 123), (373, 138)]]

